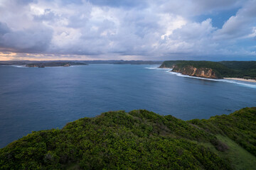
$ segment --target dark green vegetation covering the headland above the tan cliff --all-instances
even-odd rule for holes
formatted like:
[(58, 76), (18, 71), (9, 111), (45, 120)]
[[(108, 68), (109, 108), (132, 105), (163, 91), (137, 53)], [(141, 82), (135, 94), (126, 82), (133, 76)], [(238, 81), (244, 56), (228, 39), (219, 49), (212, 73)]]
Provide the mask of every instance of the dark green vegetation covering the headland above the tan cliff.
[(241, 61), (223, 61), (223, 62), (208, 62), (208, 61), (165, 61), (160, 67), (173, 68), (174, 65), (178, 68), (196, 67), (210, 68), (218, 75), (218, 77), (238, 77), (246, 79), (256, 79), (256, 62), (241, 62)]

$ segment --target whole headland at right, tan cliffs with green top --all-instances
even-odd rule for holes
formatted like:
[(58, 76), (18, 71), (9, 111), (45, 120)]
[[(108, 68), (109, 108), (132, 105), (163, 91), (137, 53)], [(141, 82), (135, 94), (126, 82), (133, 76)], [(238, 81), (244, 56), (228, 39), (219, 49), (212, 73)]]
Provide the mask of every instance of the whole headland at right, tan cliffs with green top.
[(171, 68), (171, 72), (210, 79), (256, 79), (255, 61), (208, 62), (174, 60), (163, 62), (160, 68)]

